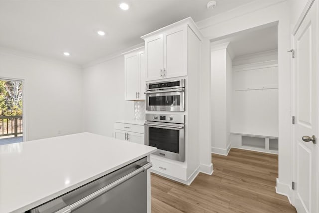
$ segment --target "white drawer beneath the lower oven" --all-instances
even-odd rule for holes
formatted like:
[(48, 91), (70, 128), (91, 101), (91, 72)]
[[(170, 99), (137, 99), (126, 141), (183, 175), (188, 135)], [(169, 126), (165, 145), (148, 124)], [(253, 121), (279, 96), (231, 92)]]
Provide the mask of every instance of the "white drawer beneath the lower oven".
[(153, 166), (151, 167), (151, 170), (187, 181), (187, 168), (161, 161), (152, 156), (153, 155), (151, 155), (151, 162)]

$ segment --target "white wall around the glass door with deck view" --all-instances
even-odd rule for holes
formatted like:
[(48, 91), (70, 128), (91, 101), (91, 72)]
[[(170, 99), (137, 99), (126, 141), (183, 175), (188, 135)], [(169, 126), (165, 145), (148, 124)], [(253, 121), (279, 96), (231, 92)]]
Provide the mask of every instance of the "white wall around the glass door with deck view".
[(25, 140), (82, 131), (80, 68), (1, 50), (0, 78), (24, 81)]

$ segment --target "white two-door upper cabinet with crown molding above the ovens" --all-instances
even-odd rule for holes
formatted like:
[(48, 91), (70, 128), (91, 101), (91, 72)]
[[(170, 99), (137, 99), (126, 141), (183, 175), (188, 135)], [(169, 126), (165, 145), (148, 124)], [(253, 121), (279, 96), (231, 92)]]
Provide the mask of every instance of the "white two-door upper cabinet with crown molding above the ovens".
[(145, 41), (146, 81), (187, 76), (189, 29), (200, 40), (191, 18), (142, 36)]

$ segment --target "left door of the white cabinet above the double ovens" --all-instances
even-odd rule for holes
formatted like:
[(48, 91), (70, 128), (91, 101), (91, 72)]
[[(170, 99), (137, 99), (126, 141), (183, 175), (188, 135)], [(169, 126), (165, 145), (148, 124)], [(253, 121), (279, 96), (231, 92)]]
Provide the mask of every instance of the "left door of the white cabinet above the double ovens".
[(155, 36), (145, 40), (146, 48), (146, 80), (161, 79), (161, 69), (164, 65), (164, 43), (163, 35)]

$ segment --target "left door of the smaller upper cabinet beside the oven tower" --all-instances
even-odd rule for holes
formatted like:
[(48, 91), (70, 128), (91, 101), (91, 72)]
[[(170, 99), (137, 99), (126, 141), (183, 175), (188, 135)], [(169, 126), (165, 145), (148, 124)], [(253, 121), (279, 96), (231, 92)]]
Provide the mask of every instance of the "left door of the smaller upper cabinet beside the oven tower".
[(125, 100), (137, 100), (139, 90), (138, 54), (125, 56)]

